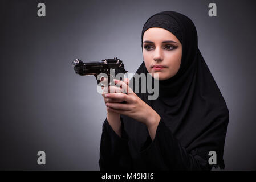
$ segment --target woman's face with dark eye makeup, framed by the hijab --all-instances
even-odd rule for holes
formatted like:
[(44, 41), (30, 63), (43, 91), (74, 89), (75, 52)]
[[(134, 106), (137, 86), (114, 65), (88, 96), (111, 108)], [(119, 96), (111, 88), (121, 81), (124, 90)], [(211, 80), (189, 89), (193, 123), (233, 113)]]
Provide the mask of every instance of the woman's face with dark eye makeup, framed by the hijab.
[(176, 75), (181, 56), (182, 44), (168, 30), (153, 27), (144, 32), (143, 58), (152, 77), (153, 73), (159, 73), (159, 80), (166, 80)]

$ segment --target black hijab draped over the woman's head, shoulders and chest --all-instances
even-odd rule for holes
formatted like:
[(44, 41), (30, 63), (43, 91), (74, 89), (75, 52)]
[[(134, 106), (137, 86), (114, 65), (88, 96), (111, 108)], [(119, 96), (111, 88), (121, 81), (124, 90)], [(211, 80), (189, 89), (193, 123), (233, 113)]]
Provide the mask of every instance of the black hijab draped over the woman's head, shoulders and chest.
[[(148, 100), (148, 93), (136, 93), (137, 96), (164, 118), (165, 125), (187, 152), (196, 152), (208, 162), (209, 151), (216, 151), (216, 167), (224, 169), (223, 153), (229, 110), (198, 49), (196, 27), (185, 15), (162, 11), (152, 15), (144, 24), (142, 48), (144, 32), (151, 27), (164, 28), (180, 40), (181, 65), (176, 75), (159, 81), (159, 97), (156, 100)], [(144, 61), (136, 73), (148, 73)], [(151, 79), (153, 83), (154, 78)], [(144, 81), (147, 83), (147, 78)], [(132, 82), (131, 79), (130, 84)], [(147, 127), (125, 115), (121, 117), (129, 137), (139, 150), (149, 135)]]

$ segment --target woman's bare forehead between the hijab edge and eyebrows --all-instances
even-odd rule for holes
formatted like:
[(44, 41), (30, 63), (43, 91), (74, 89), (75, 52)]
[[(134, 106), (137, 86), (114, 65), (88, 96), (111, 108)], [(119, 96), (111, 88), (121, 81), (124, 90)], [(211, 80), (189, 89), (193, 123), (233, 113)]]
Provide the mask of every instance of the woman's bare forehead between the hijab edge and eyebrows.
[(150, 40), (152, 42), (162, 42), (164, 40), (174, 40), (179, 42), (175, 35), (172, 32), (165, 30), (164, 28), (152, 27), (144, 32), (143, 41)]

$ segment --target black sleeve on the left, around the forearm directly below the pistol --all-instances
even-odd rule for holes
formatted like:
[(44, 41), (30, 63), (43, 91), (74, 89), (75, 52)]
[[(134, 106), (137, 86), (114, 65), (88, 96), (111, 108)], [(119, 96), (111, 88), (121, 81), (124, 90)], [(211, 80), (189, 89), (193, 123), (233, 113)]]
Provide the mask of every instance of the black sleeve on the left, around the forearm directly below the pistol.
[(103, 123), (100, 141), (99, 166), (101, 171), (105, 170), (130, 170), (132, 158), (129, 153), (128, 135), (124, 130), (123, 119), (121, 119), (121, 137), (113, 131), (107, 118)]

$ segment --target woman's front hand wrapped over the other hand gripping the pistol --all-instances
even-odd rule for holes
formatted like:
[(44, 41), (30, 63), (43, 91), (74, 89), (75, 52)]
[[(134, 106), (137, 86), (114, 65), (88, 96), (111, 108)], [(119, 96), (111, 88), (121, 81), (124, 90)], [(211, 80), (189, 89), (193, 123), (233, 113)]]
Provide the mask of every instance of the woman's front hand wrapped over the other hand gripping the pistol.
[(115, 113), (127, 115), (133, 119), (136, 119), (139, 122), (144, 123), (145, 125), (153, 126), (160, 121), (159, 114), (146, 104), (143, 100), (138, 97), (133, 90), (127, 85), (127, 83), (114, 80), (115, 84), (121, 86), (125, 93), (107, 93), (105, 94), (106, 98), (113, 98), (116, 100), (126, 101), (125, 103), (107, 103), (107, 109), (109, 111), (114, 111)]

